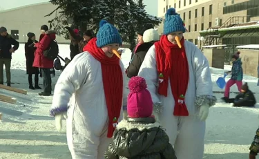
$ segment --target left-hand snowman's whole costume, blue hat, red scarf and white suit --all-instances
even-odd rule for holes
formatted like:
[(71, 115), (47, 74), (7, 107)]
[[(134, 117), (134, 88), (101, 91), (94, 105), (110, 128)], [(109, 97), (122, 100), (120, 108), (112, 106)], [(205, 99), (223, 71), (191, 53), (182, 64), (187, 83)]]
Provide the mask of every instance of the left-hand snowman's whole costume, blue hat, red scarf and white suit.
[(72, 158), (104, 159), (116, 124), (122, 120), (122, 105), (127, 98), (124, 65), (101, 49), (115, 43), (122, 44), (119, 32), (101, 21), (97, 38), (88, 42), (84, 53), (75, 56), (55, 86), (50, 115), (67, 114)]

